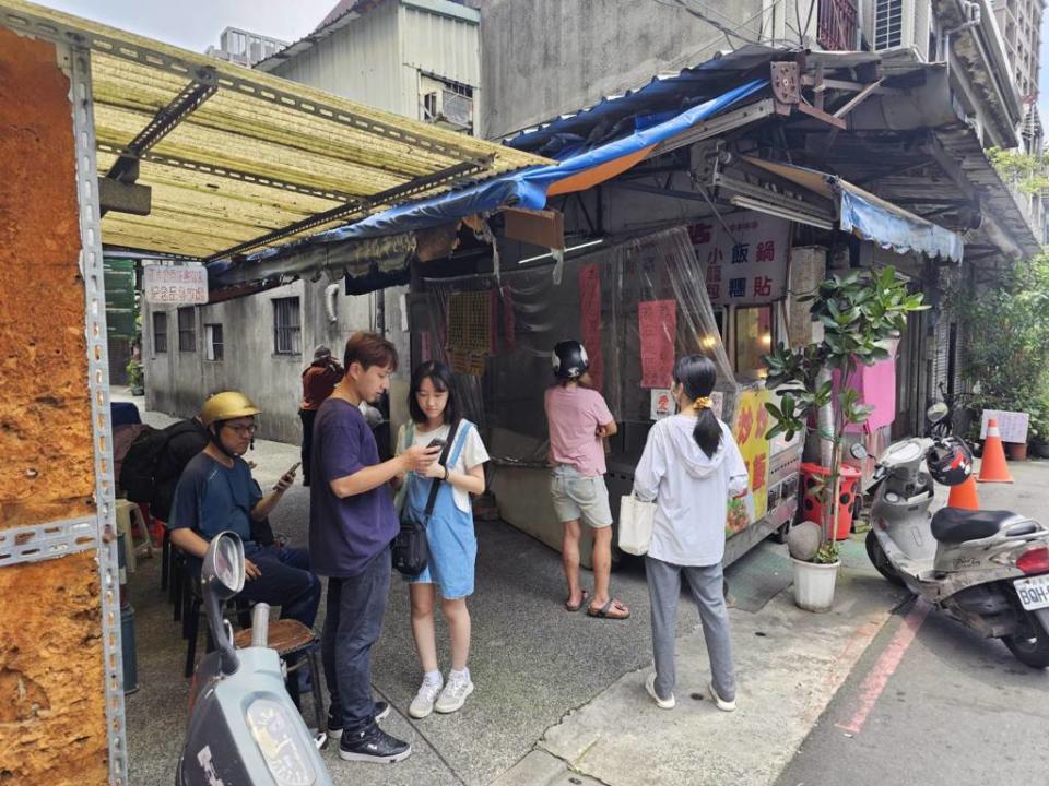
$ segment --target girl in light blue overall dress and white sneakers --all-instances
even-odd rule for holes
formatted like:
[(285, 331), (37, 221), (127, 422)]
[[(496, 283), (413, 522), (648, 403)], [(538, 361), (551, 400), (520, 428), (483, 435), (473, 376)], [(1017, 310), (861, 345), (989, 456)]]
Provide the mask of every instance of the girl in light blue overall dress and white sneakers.
[[(412, 374), (408, 408), (412, 422), (401, 427), (397, 452), (413, 444), (452, 440), (444, 465), (435, 462), (424, 474), (404, 477), (403, 504), (422, 517), (434, 479), (439, 478), (437, 500), (426, 525), (429, 562), (410, 580), (412, 635), (423, 667), (423, 683), (409, 707), (409, 715), (423, 718), (434, 710), (459, 710), (473, 692), (467, 658), (470, 655), (470, 612), (467, 597), (473, 594), (473, 565), (478, 539), (473, 531), (470, 495), (484, 492), (484, 463), (487, 451), (469, 420), (460, 420), (452, 391), (451, 370), (440, 362), (424, 362)], [(451, 433), (452, 428), (455, 433)], [(437, 666), (434, 635), (434, 605), (440, 591), (440, 606), (451, 636), (451, 671), (444, 682)]]

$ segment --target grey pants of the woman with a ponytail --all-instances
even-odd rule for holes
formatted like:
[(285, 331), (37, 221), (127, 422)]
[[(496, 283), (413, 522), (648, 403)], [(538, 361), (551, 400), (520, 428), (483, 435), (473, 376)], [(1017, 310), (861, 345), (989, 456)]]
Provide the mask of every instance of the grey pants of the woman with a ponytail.
[(724, 701), (735, 699), (732, 667), (732, 633), (724, 604), (721, 564), (675, 565), (653, 557), (645, 558), (645, 575), (652, 605), (652, 653), (656, 658), (656, 692), (663, 699), (674, 692), (674, 639), (677, 633), (677, 598), (684, 574), (703, 620), (703, 635), (710, 657), (714, 689)]

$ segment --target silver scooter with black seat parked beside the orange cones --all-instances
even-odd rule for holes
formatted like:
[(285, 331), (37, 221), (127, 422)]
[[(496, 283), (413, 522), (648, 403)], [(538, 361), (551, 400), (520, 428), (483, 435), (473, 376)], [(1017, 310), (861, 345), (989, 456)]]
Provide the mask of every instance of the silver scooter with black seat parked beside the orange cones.
[[(933, 405), (929, 420), (935, 425), (947, 413)], [(888, 581), (985, 638), (1001, 639), (1027, 666), (1047, 668), (1049, 531), (1011, 511), (942, 508), (930, 514), (933, 476), (956, 485), (971, 473), (971, 454), (956, 438), (889, 445), (871, 487), (867, 553)]]

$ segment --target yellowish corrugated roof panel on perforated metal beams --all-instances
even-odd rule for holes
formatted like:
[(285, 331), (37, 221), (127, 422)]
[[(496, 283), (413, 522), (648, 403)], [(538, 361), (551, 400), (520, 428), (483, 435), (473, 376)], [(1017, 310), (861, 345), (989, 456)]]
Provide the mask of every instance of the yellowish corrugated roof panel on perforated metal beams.
[[(0, 24), (92, 51), (99, 175), (132, 157), (153, 189), (149, 216), (105, 215), (109, 246), (200, 258), (267, 248), (547, 163), (22, 0), (0, 0)], [(179, 96), (196, 108), (165, 118)], [(144, 129), (173, 120), (134, 152)]]

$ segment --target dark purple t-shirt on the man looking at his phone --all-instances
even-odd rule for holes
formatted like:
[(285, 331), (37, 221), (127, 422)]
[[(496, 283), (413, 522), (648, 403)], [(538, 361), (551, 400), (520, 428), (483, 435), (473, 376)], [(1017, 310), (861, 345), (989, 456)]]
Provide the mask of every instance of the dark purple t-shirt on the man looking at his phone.
[(328, 398), (314, 420), (309, 485), (309, 562), (319, 575), (360, 575), (397, 536), (397, 512), (387, 484), (339, 498), (331, 481), (379, 463), (379, 450), (361, 410)]

